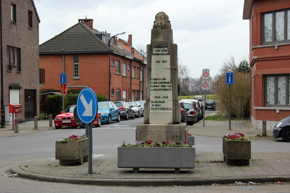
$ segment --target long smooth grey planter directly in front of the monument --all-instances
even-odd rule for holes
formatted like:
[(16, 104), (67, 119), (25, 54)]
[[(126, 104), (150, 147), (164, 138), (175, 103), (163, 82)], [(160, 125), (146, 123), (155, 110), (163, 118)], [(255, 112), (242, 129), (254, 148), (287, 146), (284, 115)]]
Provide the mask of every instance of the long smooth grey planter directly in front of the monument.
[(118, 168), (195, 168), (195, 147), (118, 147)]

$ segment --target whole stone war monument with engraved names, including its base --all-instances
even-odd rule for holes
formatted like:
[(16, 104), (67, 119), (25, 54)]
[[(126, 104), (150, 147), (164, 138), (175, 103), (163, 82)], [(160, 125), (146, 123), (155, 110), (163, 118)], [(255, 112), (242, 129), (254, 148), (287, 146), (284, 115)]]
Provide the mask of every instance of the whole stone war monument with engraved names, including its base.
[(168, 15), (159, 12), (147, 45), (147, 98), (144, 124), (136, 127), (136, 141), (187, 141), (186, 123), (180, 123), (177, 100), (177, 45)]

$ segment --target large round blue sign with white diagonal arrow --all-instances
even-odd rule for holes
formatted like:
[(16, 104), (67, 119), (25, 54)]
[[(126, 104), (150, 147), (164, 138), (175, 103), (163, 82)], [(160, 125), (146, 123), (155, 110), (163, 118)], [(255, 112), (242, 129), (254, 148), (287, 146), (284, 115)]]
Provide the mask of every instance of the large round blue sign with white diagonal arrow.
[(91, 88), (84, 88), (77, 98), (77, 115), (81, 122), (90, 124), (95, 121), (98, 112), (98, 100)]

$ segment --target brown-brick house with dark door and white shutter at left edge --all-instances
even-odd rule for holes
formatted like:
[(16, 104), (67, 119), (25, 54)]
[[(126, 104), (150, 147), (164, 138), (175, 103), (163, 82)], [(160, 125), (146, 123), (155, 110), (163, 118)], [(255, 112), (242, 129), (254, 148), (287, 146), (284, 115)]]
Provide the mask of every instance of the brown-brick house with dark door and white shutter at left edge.
[(33, 0), (2, 0), (1, 7), (4, 121), (10, 124), (9, 103), (21, 104), (19, 122), (31, 121), (39, 117), (39, 16)]

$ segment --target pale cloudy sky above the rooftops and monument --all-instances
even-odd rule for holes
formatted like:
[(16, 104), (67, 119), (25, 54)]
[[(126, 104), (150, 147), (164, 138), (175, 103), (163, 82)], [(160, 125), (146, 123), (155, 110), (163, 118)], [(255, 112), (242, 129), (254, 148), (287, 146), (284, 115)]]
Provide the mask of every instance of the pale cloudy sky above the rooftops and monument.
[(193, 78), (202, 69), (216, 75), (222, 60), (238, 63), (249, 53), (249, 20), (243, 20), (244, 0), (34, 0), (40, 17), (39, 44), (78, 22), (93, 19), (93, 28), (119, 38), (133, 36), (133, 47), (150, 44), (155, 15), (165, 12), (182, 64)]

